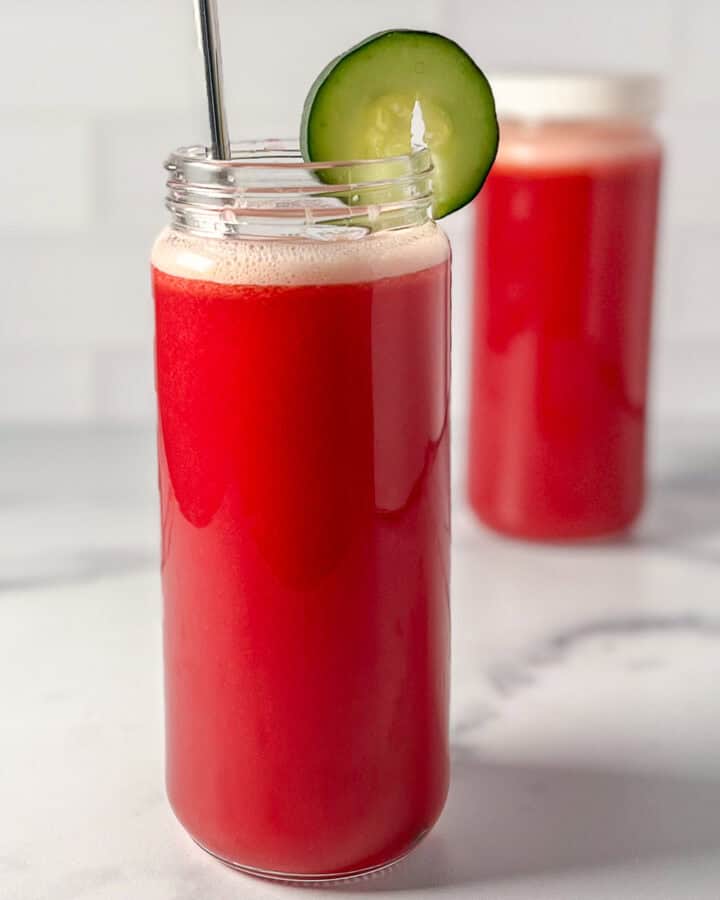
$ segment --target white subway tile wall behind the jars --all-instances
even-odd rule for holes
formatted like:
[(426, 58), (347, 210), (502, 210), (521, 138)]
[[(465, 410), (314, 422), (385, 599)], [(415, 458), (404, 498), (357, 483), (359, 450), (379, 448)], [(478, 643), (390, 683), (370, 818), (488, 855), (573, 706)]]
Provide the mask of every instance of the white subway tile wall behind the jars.
[[(0, 9), (0, 424), (153, 417), (148, 253), (167, 151), (206, 134), (191, 0)], [(314, 76), (391, 26), (513, 64), (650, 71), (667, 142), (653, 397), (720, 415), (717, 0), (220, 0), (232, 134), (292, 136)], [(472, 220), (455, 255), (454, 415), (467, 410)]]

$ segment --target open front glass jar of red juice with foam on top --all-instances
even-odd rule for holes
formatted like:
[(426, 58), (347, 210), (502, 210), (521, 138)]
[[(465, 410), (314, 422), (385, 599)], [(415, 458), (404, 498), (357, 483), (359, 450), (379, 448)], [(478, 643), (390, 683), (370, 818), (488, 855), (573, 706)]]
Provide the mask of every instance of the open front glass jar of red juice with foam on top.
[(179, 150), (152, 254), (167, 787), (314, 881), (403, 856), (448, 783), (449, 247), (426, 151)]

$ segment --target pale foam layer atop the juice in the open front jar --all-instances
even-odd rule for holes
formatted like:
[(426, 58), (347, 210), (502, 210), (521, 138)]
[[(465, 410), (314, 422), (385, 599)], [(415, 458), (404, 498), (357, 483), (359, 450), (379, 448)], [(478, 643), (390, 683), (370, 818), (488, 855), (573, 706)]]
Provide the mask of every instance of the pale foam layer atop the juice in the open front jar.
[(180, 278), (222, 284), (349, 284), (419, 272), (450, 255), (432, 222), (359, 239), (221, 240), (166, 228), (153, 265)]

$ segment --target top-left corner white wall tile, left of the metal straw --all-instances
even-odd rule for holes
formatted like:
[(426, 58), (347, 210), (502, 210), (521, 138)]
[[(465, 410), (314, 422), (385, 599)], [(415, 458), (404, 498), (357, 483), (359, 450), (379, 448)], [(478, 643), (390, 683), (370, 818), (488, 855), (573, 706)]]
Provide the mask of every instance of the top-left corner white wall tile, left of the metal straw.
[[(238, 0), (240, 5), (240, 0)], [(0, 12), (0, 106), (120, 114), (185, 109), (191, 4), (32, 0)]]

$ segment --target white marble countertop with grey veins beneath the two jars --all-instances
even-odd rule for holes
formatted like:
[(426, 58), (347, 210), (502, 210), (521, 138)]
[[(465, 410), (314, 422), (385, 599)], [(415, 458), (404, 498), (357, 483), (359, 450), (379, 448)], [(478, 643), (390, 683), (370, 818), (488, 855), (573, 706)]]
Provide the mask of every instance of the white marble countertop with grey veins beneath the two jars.
[(296, 889), (166, 805), (152, 436), (0, 439), (0, 897), (720, 897), (720, 422), (657, 429), (627, 541), (504, 541), (457, 504), (453, 780), (404, 864)]

